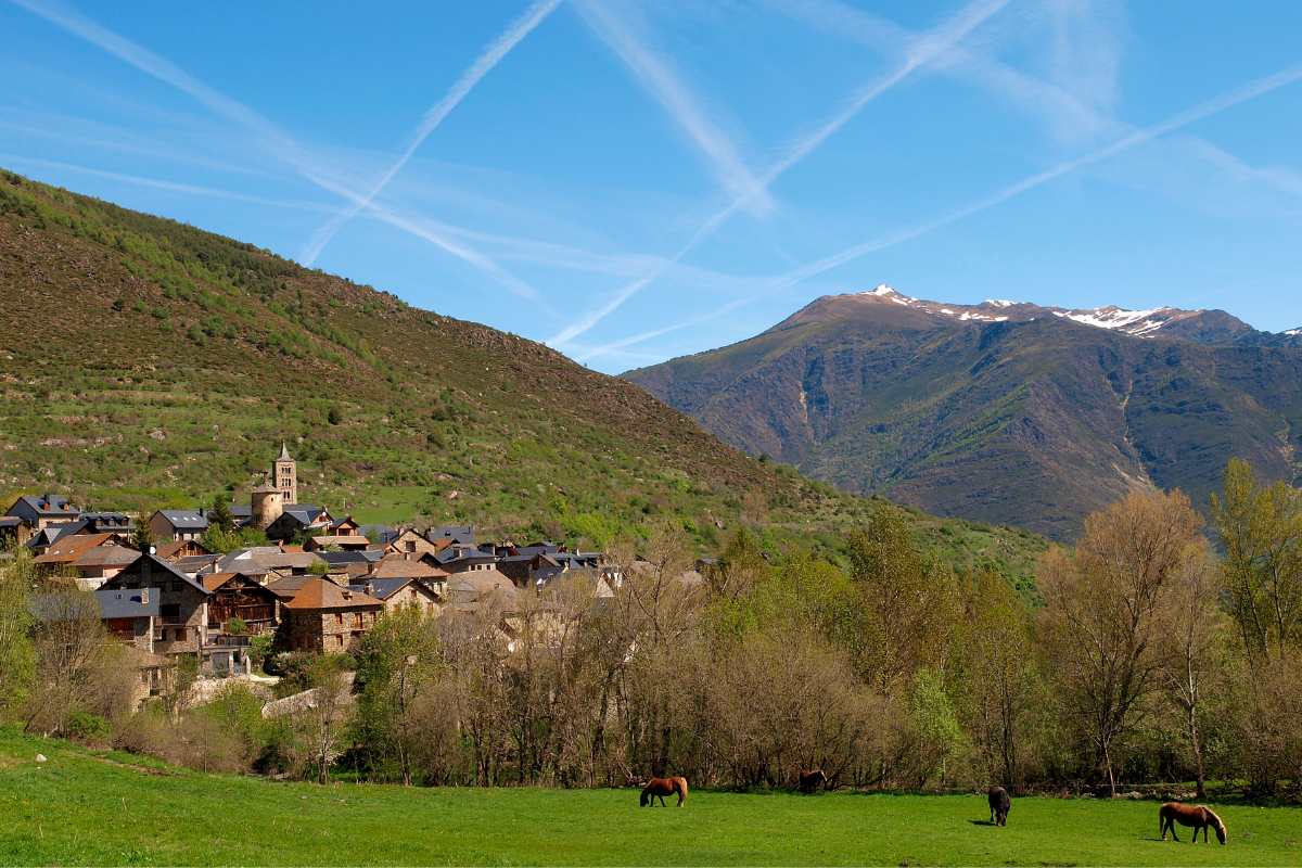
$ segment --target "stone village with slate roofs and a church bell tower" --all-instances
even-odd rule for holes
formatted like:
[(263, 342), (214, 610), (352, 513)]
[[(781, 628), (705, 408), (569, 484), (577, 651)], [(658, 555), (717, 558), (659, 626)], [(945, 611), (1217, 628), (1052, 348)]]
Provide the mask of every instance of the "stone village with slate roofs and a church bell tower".
[[(0, 549), (25, 548), (39, 575), (94, 595), (105, 630), (130, 651), (139, 708), (174, 685), (182, 660), (201, 679), (258, 677), (271, 653), (355, 652), (385, 612), (488, 617), (509, 653), (522, 595), (546, 597), (565, 576), (600, 600), (620, 582), (599, 552), (480, 541), (471, 526), (359, 524), (298, 495), (283, 444), (247, 504), (133, 518), (83, 511), (60, 495), (22, 496), (0, 517)], [(268, 544), (214, 550), (214, 539), (243, 528)]]

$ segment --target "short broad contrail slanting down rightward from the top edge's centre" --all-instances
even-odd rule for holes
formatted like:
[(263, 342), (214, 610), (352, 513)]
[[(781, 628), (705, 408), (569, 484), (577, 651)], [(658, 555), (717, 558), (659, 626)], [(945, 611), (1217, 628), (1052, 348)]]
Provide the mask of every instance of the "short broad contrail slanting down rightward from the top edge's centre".
[(592, 33), (609, 46), (642, 87), (700, 148), (713, 168), (719, 183), (729, 195), (743, 202), (754, 213), (763, 215), (772, 211), (773, 200), (768, 190), (746, 167), (737, 146), (710, 118), (699, 98), (673, 70), (669, 61), (647, 48), (629, 22), (615, 14), (603, 0), (578, 0), (575, 8)]

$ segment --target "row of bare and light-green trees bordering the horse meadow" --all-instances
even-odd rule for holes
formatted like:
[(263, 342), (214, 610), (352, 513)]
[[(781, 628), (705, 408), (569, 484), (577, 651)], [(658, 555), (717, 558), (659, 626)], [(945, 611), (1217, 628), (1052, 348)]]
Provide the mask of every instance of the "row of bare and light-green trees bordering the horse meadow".
[[(510, 612), (391, 614), (353, 660), (283, 661), (318, 690), (298, 713), (267, 721), (233, 688), (146, 720), (190, 750), (225, 739), (210, 766), (316, 780), (767, 787), (822, 768), (854, 787), (1295, 795), (1302, 493), (1234, 462), (1210, 514), (1131, 495), (1044, 556), (1031, 600), (926, 554), (891, 509), (844, 566), (740, 534), (698, 574), (660, 527), (609, 593), (575, 576)], [(48, 648), (31, 653), (39, 698)], [(141, 720), (118, 743), (151, 750)]]

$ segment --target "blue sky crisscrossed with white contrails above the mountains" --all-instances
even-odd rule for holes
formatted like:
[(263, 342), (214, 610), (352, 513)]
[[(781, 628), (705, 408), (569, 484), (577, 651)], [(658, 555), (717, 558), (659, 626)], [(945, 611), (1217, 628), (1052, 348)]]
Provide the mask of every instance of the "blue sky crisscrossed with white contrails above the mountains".
[(0, 165), (609, 372), (879, 282), (1282, 331), (1298, 33), (1266, 0), (0, 0)]

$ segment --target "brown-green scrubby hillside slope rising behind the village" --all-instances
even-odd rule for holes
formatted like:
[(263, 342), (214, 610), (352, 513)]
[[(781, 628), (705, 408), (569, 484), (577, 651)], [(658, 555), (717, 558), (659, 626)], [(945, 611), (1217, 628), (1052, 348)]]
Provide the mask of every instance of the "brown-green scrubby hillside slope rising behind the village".
[[(363, 521), (602, 545), (667, 517), (704, 549), (740, 523), (835, 547), (871, 508), (539, 344), (12, 173), (0, 286), (0, 496), (242, 498), (285, 439), (299, 498)], [(1042, 545), (922, 527), (1019, 574)]]

